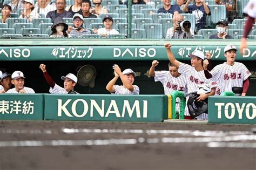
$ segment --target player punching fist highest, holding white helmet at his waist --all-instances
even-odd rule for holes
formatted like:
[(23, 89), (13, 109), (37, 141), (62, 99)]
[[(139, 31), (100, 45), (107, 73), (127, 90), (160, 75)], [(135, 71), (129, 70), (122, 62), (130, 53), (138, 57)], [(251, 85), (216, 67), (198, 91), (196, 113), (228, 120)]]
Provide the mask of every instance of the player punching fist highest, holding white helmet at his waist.
[[(179, 62), (173, 55), (171, 51), (171, 44), (164, 45), (167, 51), (167, 56), (170, 62), (175, 65), (181, 74), (186, 76), (186, 83), (187, 83), (187, 93), (192, 93), (198, 90), (198, 86), (202, 84), (211, 85), (212, 91), (207, 94), (200, 94), (197, 98), (197, 101), (203, 101), (209, 96), (215, 94), (215, 87), (216, 85), (213, 84), (211, 79), (206, 79), (203, 69), (203, 60), (205, 59), (204, 53), (202, 51), (196, 50), (192, 52), (190, 55), (191, 57), (191, 65), (184, 64)], [(188, 98), (187, 98), (188, 99)], [(200, 114), (197, 119), (207, 119), (208, 114), (203, 113)], [(190, 116), (187, 106), (185, 108), (185, 119), (192, 119)]]

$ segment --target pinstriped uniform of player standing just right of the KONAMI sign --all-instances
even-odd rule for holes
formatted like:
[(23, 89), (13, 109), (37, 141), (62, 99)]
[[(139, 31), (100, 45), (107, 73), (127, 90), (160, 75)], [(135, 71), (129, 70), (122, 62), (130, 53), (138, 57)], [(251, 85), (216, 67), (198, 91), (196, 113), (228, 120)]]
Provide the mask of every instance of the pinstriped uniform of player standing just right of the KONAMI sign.
[[(154, 81), (161, 82), (166, 95), (170, 95), (176, 90), (186, 93), (186, 77), (183, 74), (180, 74), (179, 77), (172, 77), (170, 71), (156, 71)], [(176, 102), (176, 111), (179, 111), (179, 98), (177, 98)]]

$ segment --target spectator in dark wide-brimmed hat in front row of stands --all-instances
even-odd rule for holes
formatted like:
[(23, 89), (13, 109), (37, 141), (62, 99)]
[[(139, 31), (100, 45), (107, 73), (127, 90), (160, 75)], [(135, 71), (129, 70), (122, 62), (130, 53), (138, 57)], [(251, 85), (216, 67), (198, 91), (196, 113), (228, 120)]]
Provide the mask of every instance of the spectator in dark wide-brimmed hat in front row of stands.
[(62, 17), (57, 17), (53, 21), (53, 25), (51, 27), (52, 33), (50, 37), (60, 38), (60, 37), (70, 37), (66, 30), (68, 30), (68, 25), (64, 22)]

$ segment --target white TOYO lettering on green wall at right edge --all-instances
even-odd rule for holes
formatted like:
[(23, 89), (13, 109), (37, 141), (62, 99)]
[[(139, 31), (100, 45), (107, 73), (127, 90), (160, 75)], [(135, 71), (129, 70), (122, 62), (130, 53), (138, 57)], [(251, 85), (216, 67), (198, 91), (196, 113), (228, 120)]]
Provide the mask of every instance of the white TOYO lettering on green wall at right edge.
[(238, 119), (242, 119), (243, 116), (246, 116), (247, 119), (255, 119), (256, 118), (256, 106), (254, 103), (215, 103), (217, 106), (217, 118), (221, 119), (221, 115), (223, 114), (223, 106), (224, 106), (224, 115), (227, 119), (233, 119), (235, 117), (235, 110), (238, 113)]

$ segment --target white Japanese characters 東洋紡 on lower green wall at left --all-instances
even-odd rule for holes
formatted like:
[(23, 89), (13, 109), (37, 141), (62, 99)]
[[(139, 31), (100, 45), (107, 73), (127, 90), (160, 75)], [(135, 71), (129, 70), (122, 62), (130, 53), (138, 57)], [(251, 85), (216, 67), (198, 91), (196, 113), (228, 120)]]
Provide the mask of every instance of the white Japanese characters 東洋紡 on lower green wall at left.
[(6, 101), (0, 100), (0, 114), (33, 114), (34, 113), (34, 103), (32, 101), (21, 100)]

